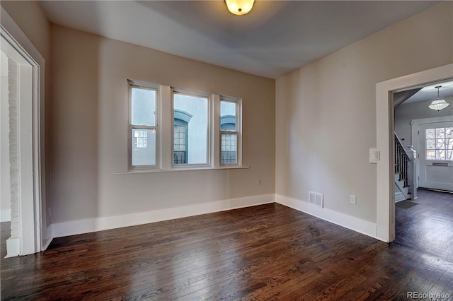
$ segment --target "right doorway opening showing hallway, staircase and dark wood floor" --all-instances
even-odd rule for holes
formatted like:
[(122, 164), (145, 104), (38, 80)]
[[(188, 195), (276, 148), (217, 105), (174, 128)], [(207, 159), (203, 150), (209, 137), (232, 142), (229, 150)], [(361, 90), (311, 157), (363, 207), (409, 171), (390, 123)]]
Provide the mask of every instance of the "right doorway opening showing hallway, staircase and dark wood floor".
[[(408, 165), (413, 167), (413, 172), (409, 172), (411, 181), (408, 187), (413, 194), (398, 197), (402, 194), (401, 188), (397, 183), (394, 185), (394, 243), (449, 260), (452, 256), (445, 249), (445, 242), (453, 238), (453, 107), (440, 111), (429, 107), (437, 98), (436, 87), (440, 85), (442, 98), (451, 103), (453, 81), (430, 83), (422, 88), (393, 93), (395, 175), (398, 175), (398, 165), (401, 164), (398, 147), (406, 148), (402, 156), (411, 157)], [(413, 93), (403, 98), (408, 91)], [(396, 176), (395, 181), (397, 179)]]

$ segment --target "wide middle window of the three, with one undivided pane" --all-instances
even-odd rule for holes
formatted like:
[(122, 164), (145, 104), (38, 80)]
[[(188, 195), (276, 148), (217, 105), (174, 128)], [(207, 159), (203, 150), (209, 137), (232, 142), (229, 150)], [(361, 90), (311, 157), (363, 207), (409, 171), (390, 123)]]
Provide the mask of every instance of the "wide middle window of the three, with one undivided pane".
[(206, 95), (173, 90), (173, 165), (207, 165), (209, 104)]

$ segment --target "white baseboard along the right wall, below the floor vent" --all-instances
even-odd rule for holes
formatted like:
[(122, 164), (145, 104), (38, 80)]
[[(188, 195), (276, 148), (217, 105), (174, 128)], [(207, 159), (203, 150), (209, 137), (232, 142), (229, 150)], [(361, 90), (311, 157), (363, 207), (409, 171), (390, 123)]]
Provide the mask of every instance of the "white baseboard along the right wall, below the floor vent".
[(377, 237), (377, 224), (370, 223), (367, 220), (361, 220), (360, 218), (348, 216), (328, 208), (319, 208), (307, 201), (291, 199), (287, 196), (280, 196), (279, 194), (275, 194), (275, 202), (308, 213), (311, 216), (316, 216), (316, 218), (321, 218), (336, 225), (354, 230), (355, 232), (376, 238), (377, 240), (382, 240)]

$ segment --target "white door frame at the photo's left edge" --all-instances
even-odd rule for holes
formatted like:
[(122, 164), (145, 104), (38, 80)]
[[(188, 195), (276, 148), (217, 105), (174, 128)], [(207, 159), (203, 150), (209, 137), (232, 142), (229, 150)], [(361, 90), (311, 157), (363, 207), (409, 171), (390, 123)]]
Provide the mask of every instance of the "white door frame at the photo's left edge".
[(44, 170), (45, 60), (13, 19), (1, 8), (1, 50), (18, 64), (18, 223), (17, 256), (42, 250)]

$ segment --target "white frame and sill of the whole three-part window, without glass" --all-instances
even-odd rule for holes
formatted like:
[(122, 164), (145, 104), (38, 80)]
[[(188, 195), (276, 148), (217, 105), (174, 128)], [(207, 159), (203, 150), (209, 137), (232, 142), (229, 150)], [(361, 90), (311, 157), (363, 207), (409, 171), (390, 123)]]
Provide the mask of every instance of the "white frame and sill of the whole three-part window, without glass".
[[(128, 79), (128, 119), (127, 119), (127, 155), (128, 170), (115, 174), (135, 172), (171, 172), (178, 170), (212, 170), (248, 168), (242, 166), (242, 99), (226, 95), (207, 93), (202, 91), (176, 88), (169, 85), (148, 83)], [(138, 126), (132, 124), (132, 88), (156, 90), (156, 125)], [(206, 164), (174, 164), (173, 161), (173, 129), (174, 129), (174, 94), (190, 95), (207, 98), (207, 160)], [(220, 129), (220, 102), (236, 102), (236, 131), (221, 131)], [(132, 165), (132, 129), (154, 129), (156, 131), (156, 164)], [(221, 164), (221, 135), (237, 135), (237, 162)]]

